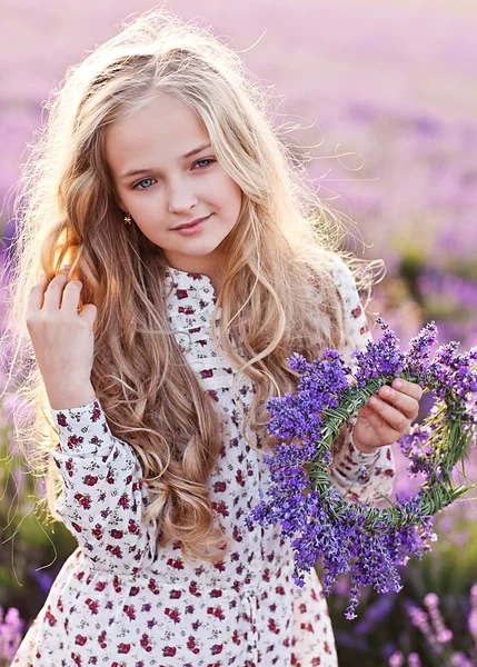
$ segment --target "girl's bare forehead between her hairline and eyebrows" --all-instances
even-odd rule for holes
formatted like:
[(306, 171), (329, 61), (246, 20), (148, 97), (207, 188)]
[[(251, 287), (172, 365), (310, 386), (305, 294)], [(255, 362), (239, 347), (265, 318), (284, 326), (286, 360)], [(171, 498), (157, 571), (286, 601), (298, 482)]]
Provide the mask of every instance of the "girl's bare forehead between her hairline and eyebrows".
[[(209, 135), (199, 116), (183, 102), (158, 94), (139, 111), (115, 121), (105, 139), (113, 171), (178, 160)], [(153, 162), (152, 162), (153, 160)], [(139, 163), (140, 162), (140, 163)]]

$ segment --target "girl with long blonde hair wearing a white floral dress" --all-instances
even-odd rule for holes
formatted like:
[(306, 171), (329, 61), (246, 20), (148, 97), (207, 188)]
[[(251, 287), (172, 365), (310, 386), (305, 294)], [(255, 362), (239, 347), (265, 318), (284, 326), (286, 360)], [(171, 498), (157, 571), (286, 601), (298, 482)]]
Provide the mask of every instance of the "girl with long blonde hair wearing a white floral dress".
[[(12, 315), (49, 508), (78, 548), (13, 665), (337, 665), (316, 574), (297, 587), (279, 529), (245, 525), (287, 358), (369, 336), (322, 206), (238, 54), (162, 9), (71, 69), (49, 111)], [(348, 422), (337, 489), (390, 492), (420, 394), (395, 380)]]

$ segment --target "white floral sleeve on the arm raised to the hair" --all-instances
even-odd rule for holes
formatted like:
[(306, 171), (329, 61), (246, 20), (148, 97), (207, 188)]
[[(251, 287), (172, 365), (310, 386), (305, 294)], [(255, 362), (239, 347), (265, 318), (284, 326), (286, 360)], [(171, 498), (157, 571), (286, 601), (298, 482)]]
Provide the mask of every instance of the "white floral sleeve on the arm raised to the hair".
[(60, 438), (57, 512), (98, 569), (133, 575), (153, 557), (156, 538), (141, 522), (148, 496), (132, 447), (111, 434), (98, 399), (51, 414)]

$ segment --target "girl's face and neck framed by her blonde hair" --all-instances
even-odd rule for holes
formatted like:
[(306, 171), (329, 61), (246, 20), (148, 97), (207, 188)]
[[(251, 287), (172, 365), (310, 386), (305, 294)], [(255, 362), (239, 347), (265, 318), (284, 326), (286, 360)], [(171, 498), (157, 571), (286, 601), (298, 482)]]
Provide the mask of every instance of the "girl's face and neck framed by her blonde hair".
[[(237, 223), (242, 193), (212, 147), (183, 158), (203, 145), (210, 145), (210, 138), (198, 116), (160, 93), (145, 109), (111, 126), (106, 159), (118, 206), (162, 248), (169, 266), (208, 276), (218, 291), (221, 243)], [(121, 178), (132, 169), (142, 171)], [(205, 228), (192, 236), (173, 230), (209, 213)]]

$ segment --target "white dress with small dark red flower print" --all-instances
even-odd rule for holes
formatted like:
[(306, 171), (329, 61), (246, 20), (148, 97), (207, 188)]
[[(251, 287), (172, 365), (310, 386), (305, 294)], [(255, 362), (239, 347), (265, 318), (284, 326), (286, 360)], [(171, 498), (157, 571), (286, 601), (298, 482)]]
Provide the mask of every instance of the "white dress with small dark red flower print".
[[(355, 281), (334, 262), (342, 296), (349, 354), (369, 332)], [(220, 404), (225, 441), (210, 476), (216, 520), (232, 547), (219, 564), (188, 564), (177, 544), (156, 546), (143, 526), (147, 487), (132, 447), (113, 437), (99, 400), (52, 410), (60, 441), (52, 451), (62, 478), (58, 512), (78, 540), (12, 665), (21, 667), (331, 667), (337, 656), (326, 600), (315, 571), (304, 588), (292, 581), (292, 550), (279, 527), (248, 530), (245, 518), (267, 488), (269, 452), (241, 436), (232, 398), (235, 370), (212, 347), (216, 295), (207, 276), (169, 269), (171, 327), (203, 389)], [(187, 331), (191, 337), (183, 334)], [(251, 405), (252, 385), (240, 399)], [(352, 445), (330, 471), (334, 485), (356, 497), (389, 494), (389, 447), (364, 455)], [(366, 467), (368, 475), (362, 475)], [(358, 475), (358, 470), (360, 475)]]

